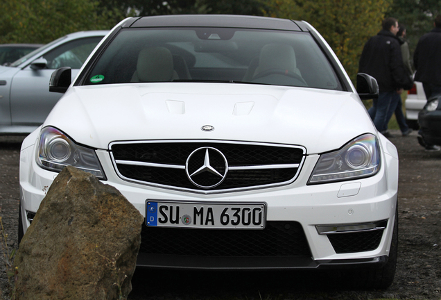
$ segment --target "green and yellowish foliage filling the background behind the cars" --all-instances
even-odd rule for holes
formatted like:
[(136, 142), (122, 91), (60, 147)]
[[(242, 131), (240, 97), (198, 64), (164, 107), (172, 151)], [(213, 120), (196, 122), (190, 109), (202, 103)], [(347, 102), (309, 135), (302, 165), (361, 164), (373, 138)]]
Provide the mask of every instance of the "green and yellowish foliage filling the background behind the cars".
[(407, 27), (411, 54), (433, 28), (440, 0), (1, 0), (0, 44), (47, 43), (75, 31), (110, 29), (139, 15), (232, 14), (305, 20), (323, 35), (354, 81), (363, 45), (384, 17)]

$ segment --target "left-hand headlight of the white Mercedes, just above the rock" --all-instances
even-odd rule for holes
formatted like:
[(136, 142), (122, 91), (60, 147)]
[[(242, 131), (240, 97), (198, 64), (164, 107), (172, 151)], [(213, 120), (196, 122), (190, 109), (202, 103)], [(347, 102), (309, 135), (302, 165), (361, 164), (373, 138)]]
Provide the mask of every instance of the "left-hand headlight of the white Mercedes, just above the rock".
[(40, 133), (37, 163), (43, 169), (53, 172), (61, 172), (64, 167), (71, 165), (105, 179), (95, 151), (75, 144), (64, 133), (53, 127), (45, 127)]

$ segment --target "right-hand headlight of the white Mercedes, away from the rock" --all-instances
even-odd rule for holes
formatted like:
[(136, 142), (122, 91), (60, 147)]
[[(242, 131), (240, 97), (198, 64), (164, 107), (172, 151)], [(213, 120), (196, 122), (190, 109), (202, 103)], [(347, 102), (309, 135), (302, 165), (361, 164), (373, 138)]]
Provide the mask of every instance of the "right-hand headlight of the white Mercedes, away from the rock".
[(346, 181), (377, 174), (379, 153), (375, 135), (361, 135), (338, 151), (322, 154), (308, 183)]

